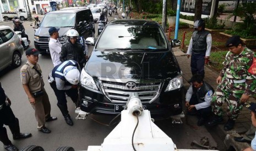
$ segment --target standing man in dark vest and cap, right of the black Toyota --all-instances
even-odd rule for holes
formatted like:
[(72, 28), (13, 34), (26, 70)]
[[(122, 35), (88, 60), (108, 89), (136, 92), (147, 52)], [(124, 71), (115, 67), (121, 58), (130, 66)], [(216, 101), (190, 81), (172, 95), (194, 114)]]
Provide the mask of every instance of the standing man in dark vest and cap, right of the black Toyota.
[(199, 19), (194, 22), (195, 31), (190, 39), (187, 57), (191, 56), (192, 74), (201, 74), (204, 78), (204, 64), (208, 63), (211, 53), (211, 34), (205, 30), (205, 22)]

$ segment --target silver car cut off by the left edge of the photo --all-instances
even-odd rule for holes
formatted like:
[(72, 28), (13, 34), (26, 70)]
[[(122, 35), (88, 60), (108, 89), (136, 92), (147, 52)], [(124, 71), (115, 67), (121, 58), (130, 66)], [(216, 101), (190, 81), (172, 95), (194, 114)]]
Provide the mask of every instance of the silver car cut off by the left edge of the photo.
[(9, 26), (0, 26), (0, 71), (9, 65), (19, 67), (23, 46), (21, 39)]

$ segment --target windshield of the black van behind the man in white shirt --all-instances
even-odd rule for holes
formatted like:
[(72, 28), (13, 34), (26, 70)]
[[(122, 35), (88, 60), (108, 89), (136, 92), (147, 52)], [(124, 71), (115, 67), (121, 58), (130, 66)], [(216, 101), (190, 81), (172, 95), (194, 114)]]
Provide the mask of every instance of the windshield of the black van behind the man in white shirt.
[(40, 27), (74, 27), (75, 26), (75, 14), (61, 14), (53, 13), (47, 14), (43, 18)]

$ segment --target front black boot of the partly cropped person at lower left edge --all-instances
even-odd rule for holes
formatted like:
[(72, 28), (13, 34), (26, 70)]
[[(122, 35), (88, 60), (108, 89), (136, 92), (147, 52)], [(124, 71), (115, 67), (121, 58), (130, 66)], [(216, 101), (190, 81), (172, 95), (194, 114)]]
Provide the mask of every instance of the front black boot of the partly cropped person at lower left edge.
[(19, 120), (17, 118), (15, 118), (15, 121), (9, 124), (8, 126), (13, 134), (13, 140), (18, 140), (20, 138), (28, 138), (32, 136), (31, 133), (20, 132)]

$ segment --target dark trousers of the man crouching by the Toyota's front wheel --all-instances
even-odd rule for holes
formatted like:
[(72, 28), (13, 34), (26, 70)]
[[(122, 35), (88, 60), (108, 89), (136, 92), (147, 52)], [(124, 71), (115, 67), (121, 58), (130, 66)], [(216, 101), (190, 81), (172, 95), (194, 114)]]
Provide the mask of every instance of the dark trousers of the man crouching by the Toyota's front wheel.
[[(193, 94), (192, 97), (190, 98), (189, 101), (190, 105), (195, 105), (195, 104), (199, 104), (198, 100), (197, 100), (197, 95)], [(211, 115), (211, 106), (206, 107), (206, 108), (201, 108), (201, 109), (195, 109), (199, 114), (201, 118), (207, 118), (209, 117), (209, 115)]]

